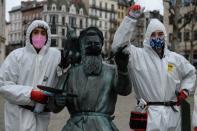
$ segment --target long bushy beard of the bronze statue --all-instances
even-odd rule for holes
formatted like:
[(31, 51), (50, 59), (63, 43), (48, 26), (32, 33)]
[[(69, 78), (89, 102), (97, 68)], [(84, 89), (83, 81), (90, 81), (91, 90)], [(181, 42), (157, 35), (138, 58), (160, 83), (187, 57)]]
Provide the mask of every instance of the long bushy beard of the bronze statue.
[(86, 75), (99, 75), (102, 69), (102, 57), (99, 56), (83, 56), (83, 69)]

